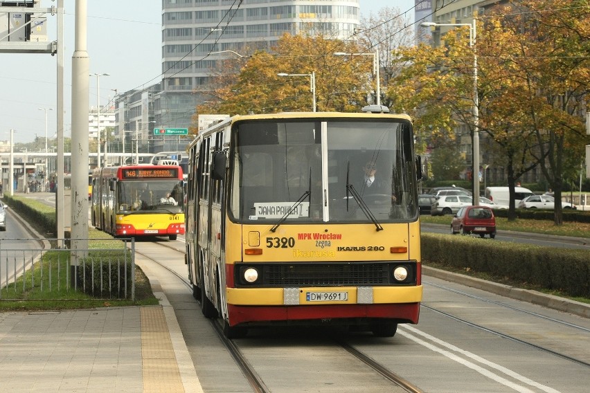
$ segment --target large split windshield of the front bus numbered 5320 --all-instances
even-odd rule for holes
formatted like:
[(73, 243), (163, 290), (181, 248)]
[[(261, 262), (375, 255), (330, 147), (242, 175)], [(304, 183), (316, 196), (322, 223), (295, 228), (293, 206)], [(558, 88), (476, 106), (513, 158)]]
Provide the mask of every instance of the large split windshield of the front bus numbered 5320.
[(409, 121), (257, 121), (234, 130), (235, 219), (384, 223), (418, 217)]

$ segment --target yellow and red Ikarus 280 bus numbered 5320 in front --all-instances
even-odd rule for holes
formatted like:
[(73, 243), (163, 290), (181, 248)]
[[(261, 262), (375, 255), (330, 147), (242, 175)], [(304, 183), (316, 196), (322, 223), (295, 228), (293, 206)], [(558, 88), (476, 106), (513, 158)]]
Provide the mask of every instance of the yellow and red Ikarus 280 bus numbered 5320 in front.
[(202, 131), (186, 217), (202, 313), (228, 337), (279, 324), (391, 337), (418, 323), (421, 176), (406, 115), (234, 116)]

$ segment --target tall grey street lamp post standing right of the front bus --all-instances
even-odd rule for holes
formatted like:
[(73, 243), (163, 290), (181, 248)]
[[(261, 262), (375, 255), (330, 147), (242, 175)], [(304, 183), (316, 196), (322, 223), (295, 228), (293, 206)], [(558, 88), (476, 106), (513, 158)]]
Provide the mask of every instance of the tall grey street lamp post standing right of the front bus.
[(472, 24), (437, 24), (422, 22), (420, 26), (469, 26), (469, 45), (473, 50), (473, 204), (479, 205), (479, 95), (477, 93), (477, 53), (475, 51), (476, 24), (474, 17)]

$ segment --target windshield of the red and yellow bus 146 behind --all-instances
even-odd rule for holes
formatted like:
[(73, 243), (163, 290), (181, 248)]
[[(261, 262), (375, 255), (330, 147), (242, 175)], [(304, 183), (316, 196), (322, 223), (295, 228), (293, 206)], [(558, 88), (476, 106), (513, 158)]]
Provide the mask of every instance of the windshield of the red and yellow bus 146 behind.
[(136, 210), (184, 211), (183, 182), (178, 180), (118, 181), (119, 212)]

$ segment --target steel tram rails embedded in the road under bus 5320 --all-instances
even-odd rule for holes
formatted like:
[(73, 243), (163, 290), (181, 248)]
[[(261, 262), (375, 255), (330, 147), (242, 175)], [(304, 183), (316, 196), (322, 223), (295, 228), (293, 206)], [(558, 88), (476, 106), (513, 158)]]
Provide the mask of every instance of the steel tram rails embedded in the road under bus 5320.
[[(162, 242), (162, 243), (158, 243), (158, 244), (159, 244), (159, 246), (163, 246), (163, 247), (166, 247), (170, 250), (175, 250), (177, 253), (181, 253), (181, 251), (177, 250), (177, 248), (170, 246), (169, 244), (166, 244), (166, 242)], [(136, 253), (143, 255), (143, 257), (145, 257), (147, 259), (150, 259), (151, 262), (153, 262), (154, 264), (157, 264), (161, 268), (164, 268), (166, 271), (168, 271), (170, 274), (174, 275), (178, 280), (180, 280), (182, 282), (182, 284), (184, 284), (184, 286), (186, 286), (186, 289), (188, 289), (188, 291), (190, 291), (192, 293), (192, 291), (193, 291), (192, 285), (190, 284), (190, 282), (188, 282), (186, 277), (183, 277), (174, 269), (170, 268), (169, 266), (166, 266), (166, 264), (163, 264), (163, 263), (157, 261), (156, 259), (150, 257), (150, 255), (147, 255), (146, 253), (142, 253), (141, 251), (139, 251), (137, 249), (136, 249)], [(220, 342), (222, 342), (222, 344), (224, 345), (226, 350), (229, 352), (229, 354), (231, 355), (231, 357), (235, 361), (235, 364), (238, 365), (238, 367), (242, 371), (244, 378), (246, 378), (246, 380), (248, 381), (253, 392), (256, 392), (256, 393), (271, 392), (269, 387), (267, 387), (267, 385), (263, 381), (263, 378), (258, 374), (258, 372), (256, 372), (256, 368), (253, 367), (249, 363), (249, 361), (247, 360), (247, 357), (244, 356), (244, 354), (240, 350), (240, 347), (238, 345), (236, 345), (235, 340), (231, 340), (231, 339), (226, 338), (224, 336), (223, 327), (222, 327), (220, 320), (219, 319), (210, 320), (210, 322), (211, 322), (211, 327), (213, 328), (213, 331), (215, 331), (218, 338), (220, 339)], [(386, 379), (386, 381), (393, 383), (393, 385), (395, 385), (396, 387), (400, 387), (405, 392), (422, 393), (422, 390), (420, 390), (417, 386), (413, 385), (409, 381), (406, 381), (401, 376), (395, 374), (390, 369), (388, 369), (385, 365), (382, 365), (381, 363), (379, 363), (376, 360), (374, 360), (373, 358), (371, 358), (368, 354), (365, 354), (364, 352), (360, 351), (359, 349), (352, 347), (352, 345), (350, 345), (348, 342), (346, 342), (346, 340), (344, 340), (343, 338), (335, 339), (335, 340), (333, 340), (333, 342), (335, 345), (337, 345), (341, 349), (344, 349), (348, 354), (350, 354), (350, 356), (352, 356), (356, 360), (360, 361), (361, 363), (363, 363), (364, 365), (369, 367), (373, 372), (383, 376)]]

